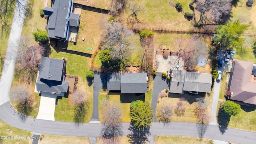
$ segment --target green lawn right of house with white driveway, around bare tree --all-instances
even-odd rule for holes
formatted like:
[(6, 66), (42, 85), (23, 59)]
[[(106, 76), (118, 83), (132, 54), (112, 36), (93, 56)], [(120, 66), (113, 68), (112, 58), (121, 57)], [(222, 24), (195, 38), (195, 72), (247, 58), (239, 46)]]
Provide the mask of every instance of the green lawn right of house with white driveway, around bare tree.
[[(88, 95), (88, 110), (85, 122), (89, 122), (92, 114), (92, 86), (88, 86), (86, 81), (86, 71), (89, 70), (90, 58), (68, 54), (65, 52), (53, 51), (50, 55), (51, 58), (61, 59), (65, 57), (67, 60), (66, 73), (78, 76), (77, 90), (85, 90)], [(68, 98), (58, 100), (58, 105), (55, 108), (55, 120), (74, 122), (74, 106), (68, 102)]]

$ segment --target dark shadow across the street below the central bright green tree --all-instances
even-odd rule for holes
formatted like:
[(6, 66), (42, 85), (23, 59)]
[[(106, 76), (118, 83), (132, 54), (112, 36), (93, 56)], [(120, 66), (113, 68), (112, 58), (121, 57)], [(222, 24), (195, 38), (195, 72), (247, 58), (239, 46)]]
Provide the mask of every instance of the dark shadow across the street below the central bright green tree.
[(131, 134), (128, 134), (127, 137), (129, 138), (128, 142), (130, 144), (146, 144), (148, 141), (148, 137), (150, 134), (150, 127), (146, 127), (144, 131), (138, 130), (136, 127), (133, 127), (133, 123), (130, 122), (130, 127), (128, 128)]

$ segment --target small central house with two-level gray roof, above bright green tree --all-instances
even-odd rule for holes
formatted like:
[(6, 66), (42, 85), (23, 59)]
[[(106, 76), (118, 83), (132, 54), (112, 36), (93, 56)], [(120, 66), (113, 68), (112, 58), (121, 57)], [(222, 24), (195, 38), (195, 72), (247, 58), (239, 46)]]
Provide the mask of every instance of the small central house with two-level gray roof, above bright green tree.
[(108, 73), (108, 90), (121, 93), (146, 93), (147, 73)]

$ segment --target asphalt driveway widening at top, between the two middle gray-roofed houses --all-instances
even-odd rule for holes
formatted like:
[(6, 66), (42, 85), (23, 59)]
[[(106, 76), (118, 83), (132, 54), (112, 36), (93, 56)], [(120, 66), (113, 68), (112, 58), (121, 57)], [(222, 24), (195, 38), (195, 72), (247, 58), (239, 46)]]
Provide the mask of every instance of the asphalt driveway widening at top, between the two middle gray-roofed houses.
[(152, 110), (154, 111), (153, 120), (155, 122), (157, 122), (156, 120), (157, 97), (158, 97), (158, 94), (161, 92), (161, 90), (164, 90), (166, 88), (168, 88), (168, 84), (166, 83), (166, 80), (162, 80), (162, 73), (157, 72), (156, 77), (154, 78), (152, 101), (151, 101), (151, 107), (152, 107)]

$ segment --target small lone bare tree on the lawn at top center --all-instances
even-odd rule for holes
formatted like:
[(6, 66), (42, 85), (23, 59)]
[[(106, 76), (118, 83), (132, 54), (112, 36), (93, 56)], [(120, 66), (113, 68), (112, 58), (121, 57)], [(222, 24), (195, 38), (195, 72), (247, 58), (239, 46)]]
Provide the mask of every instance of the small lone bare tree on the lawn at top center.
[(128, 24), (131, 24), (132, 27), (133, 27), (133, 25), (135, 24), (135, 22), (141, 23), (140, 20), (138, 20), (138, 18), (137, 18), (138, 12), (142, 11), (141, 8), (140, 8), (140, 6), (137, 6), (137, 5), (132, 5), (132, 6), (131, 6), (130, 4), (128, 4), (128, 8), (132, 11), (132, 14), (130, 14), (130, 15), (128, 16), (128, 18), (127, 18), (127, 23), (128, 23)]

